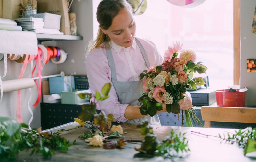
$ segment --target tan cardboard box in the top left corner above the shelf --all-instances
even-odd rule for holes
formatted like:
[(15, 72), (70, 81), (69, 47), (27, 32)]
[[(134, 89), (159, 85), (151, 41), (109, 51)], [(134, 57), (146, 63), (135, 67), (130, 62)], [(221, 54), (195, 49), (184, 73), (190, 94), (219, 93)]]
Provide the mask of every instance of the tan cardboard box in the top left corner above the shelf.
[(19, 4), (21, 3), (21, 0), (0, 0), (0, 3), (1, 1), (2, 1), (2, 18), (7, 18), (7, 19), (20, 18), (19, 16), (21, 14), (21, 11), (19, 11), (20, 9)]

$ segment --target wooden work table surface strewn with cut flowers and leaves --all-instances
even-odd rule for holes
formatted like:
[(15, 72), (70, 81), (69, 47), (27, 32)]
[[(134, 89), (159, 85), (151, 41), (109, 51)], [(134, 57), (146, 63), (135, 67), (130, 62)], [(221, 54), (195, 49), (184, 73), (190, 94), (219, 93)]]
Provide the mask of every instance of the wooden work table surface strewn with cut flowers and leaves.
[[(51, 129), (57, 131), (59, 129), (69, 129), (78, 126), (76, 122)], [(134, 124), (121, 124), (125, 134), (125, 138), (143, 139), (140, 134), (140, 129), (136, 128)], [(84, 140), (78, 138), (88, 132), (85, 127), (80, 127), (69, 132), (63, 132), (61, 136), (65, 137), (71, 143), (76, 139), (78, 145), (69, 147), (68, 152), (57, 152), (51, 159), (43, 159), (40, 154), (30, 156), (28, 152), (21, 152), (17, 157), (17, 161), (91, 161), (91, 162), (130, 162), (130, 161), (182, 161), (182, 162), (250, 162), (256, 161), (256, 153), (243, 155), (243, 149), (239, 148), (236, 144), (228, 144), (221, 142), (216, 137), (205, 137), (191, 133), (197, 131), (208, 135), (218, 135), (226, 132), (234, 132), (235, 129), (222, 129), (222, 128), (198, 128), (198, 127), (175, 127), (175, 126), (153, 126), (153, 131), (157, 135), (158, 140), (162, 141), (166, 136), (170, 135), (170, 130), (173, 129), (175, 133), (186, 132), (185, 137), (188, 139), (188, 147), (191, 152), (184, 158), (164, 159), (162, 157), (141, 156), (134, 147), (140, 148), (140, 144), (127, 143), (121, 149), (108, 149), (102, 147), (87, 146)]]

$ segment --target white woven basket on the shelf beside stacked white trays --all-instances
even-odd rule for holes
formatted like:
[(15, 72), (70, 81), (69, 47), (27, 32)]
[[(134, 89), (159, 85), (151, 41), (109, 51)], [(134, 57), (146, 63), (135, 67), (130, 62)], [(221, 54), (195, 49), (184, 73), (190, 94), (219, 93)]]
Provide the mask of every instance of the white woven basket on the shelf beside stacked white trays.
[(52, 13), (37, 13), (33, 15), (20, 15), (20, 18), (43, 18), (45, 29), (57, 29), (60, 30), (60, 18), (61, 15)]

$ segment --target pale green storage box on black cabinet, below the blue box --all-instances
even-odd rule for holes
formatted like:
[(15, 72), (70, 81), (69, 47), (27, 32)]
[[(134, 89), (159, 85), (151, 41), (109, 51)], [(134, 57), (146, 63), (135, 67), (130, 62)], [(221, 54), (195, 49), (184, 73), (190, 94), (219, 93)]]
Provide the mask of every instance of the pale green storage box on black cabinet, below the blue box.
[(89, 90), (81, 90), (81, 91), (66, 91), (61, 93), (61, 103), (62, 104), (80, 104), (89, 102), (90, 100), (85, 98), (81, 99), (78, 94), (79, 93), (90, 93)]

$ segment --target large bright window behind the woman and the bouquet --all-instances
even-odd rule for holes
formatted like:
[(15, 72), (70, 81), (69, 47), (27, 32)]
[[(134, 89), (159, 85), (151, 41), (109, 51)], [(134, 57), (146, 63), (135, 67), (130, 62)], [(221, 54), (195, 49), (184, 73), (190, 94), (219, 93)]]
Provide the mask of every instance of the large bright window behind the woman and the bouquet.
[(212, 80), (233, 85), (233, 0), (208, 0), (193, 8), (147, 0), (145, 13), (134, 18), (136, 36), (153, 41), (161, 55), (180, 41), (208, 67), (210, 85)]

